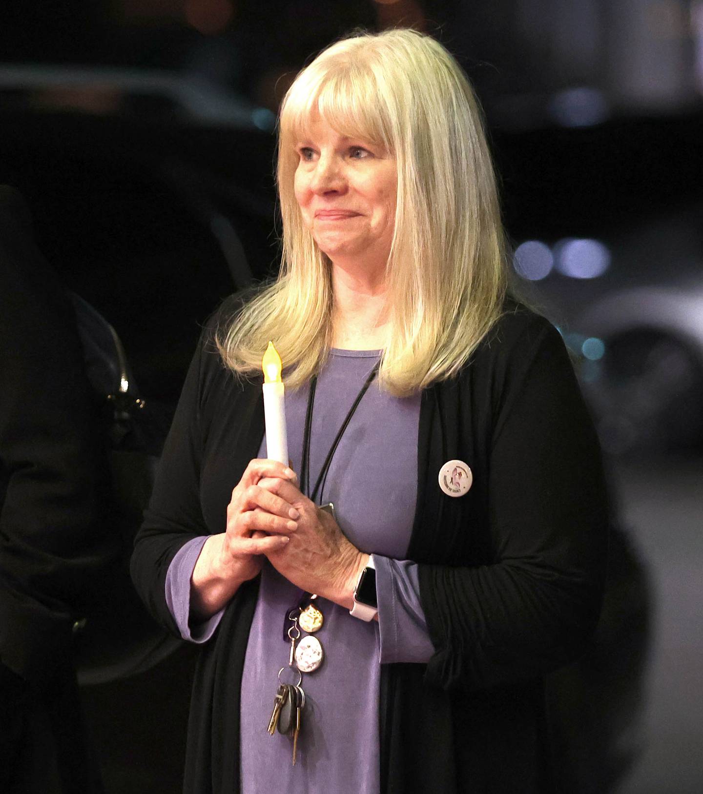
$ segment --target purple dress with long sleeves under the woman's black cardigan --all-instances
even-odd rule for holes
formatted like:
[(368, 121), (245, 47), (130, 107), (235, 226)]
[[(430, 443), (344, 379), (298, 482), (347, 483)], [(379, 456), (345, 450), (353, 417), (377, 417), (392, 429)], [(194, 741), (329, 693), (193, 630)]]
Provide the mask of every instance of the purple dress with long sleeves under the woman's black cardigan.
[[(315, 394), (312, 484), (377, 357), (376, 351), (331, 351)], [(286, 394), (288, 450), (295, 471), (300, 468), (307, 396), (307, 387)], [(415, 515), (418, 424), (419, 395), (395, 398), (374, 381), (342, 436), (319, 495), (319, 503), (334, 503), (346, 537), (373, 554), (379, 622), (363, 622), (338, 604), (317, 600), (324, 625), (315, 636), (325, 659), (314, 673), (303, 675), (306, 707), (295, 767), (291, 739), (270, 736), (266, 727), (277, 673), (288, 664), (284, 616), (302, 591), (268, 563), (261, 573), (241, 681), (242, 794), (379, 791), (380, 665), (426, 662), (434, 652), (419, 603), (417, 567), (404, 561)], [(265, 450), (264, 440), (260, 457)], [(180, 549), (166, 580), (168, 606), (183, 638), (194, 642), (206, 642), (222, 615), (188, 625), (190, 577), (205, 540), (196, 538)]]

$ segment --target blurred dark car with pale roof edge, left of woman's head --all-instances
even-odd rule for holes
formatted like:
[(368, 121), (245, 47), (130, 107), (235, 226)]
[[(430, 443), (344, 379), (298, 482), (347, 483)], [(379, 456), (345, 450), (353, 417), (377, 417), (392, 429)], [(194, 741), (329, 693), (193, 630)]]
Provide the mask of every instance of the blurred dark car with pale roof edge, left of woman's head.
[(0, 181), (145, 397), (175, 402), (199, 325), (276, 260), (270, 116), (168, 73), (0, 66)]

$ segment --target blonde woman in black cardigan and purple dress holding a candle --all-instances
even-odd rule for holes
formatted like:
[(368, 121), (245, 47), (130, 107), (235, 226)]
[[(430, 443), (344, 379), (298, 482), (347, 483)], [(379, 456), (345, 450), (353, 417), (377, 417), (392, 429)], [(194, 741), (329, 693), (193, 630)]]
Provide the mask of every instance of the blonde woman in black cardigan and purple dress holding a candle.
[[(280, 277), (204, 332), (133, 556), (203, 643), (185, 790), (548, 791), (543, 676), (597, 620), (605, 497), (558, 333), (505, 298), (465, 76), (407, 30), (334, 44), (284, 100), (278, 183)], [(265, 460), (269, 339), (292, 468)], [(266, 728), (298, 669), (293, 766)]]

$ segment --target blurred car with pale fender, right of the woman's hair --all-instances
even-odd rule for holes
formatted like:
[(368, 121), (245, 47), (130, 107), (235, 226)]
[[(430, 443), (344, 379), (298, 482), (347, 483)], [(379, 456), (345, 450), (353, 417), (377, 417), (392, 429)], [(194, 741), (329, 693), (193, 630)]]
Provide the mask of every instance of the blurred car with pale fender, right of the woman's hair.
[(703, 449), (703, 117), (494, 135), (518, 287), (615, 455)]

